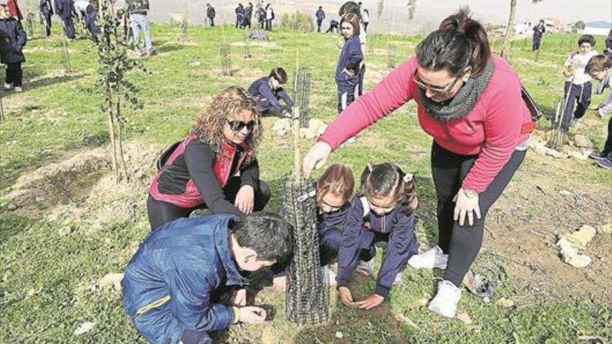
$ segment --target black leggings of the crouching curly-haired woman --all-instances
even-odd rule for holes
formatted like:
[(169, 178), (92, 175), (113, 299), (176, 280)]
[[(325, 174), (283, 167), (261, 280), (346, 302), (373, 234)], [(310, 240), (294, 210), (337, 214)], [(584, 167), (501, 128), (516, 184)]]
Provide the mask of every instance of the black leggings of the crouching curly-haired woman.
[[(232, 202), (232, 204), (236, 199), (238, 190), (240, 190), (240, 183), (240, 177), (232, 177), (229, 181), (227, 181), (225, 187), (223, 187), (225, 199)], [(265, 181), (258, 181), (258, 186), (255, 188), (255, 203), (253, 204), (253, 211), (261, 211), (264, 206), (268, 204), (270, 195), (271, 193), (268, 184), (266, 184)], [(151, 230), (156, 229), (166, 222), (176, 220), (177, 218), (188, 218), (189, 215), (195, 211), (195, 209), (204, 208), (207, 208), (205, 203), (202, 203), (200, 206), (196, 206), (194, 208), (182, 208), (180, 206), (175, 206), (172, 203), (153, 199), (151, 195), (149, 195), (149, 198), (147, 199), (147, 213), (149, 214)]]

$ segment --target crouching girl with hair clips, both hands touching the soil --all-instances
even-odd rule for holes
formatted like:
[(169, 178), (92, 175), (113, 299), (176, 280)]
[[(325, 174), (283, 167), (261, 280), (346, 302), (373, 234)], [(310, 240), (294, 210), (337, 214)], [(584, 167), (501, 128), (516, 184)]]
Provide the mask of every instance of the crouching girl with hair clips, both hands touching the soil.
[[(361, 197), (355, 197), (347, 215), (343, 243), (338, 254), (338, 290), (342, 303), (371, 309), (381, 304), (394, 284), (401, 283), (401, 271), (419, 248), (414, 235), (417, 218), (417, 186), (412, 174), (390, 163), (368, 165), (361, 177)], [(362, 243), (369, 247), (368, 262), (360, 263), (364, 275), (372, 273), (374, 244), (386, 242), (387, 252), (378, 272), (376, 290), (366, 300), (354, 302), (351, 290)], [(364, 256), (364, 254), (361, 254)], [(364, 266), (365, 265), (365, 266)], [(369, 270), (369, 271), (368, 271)]]

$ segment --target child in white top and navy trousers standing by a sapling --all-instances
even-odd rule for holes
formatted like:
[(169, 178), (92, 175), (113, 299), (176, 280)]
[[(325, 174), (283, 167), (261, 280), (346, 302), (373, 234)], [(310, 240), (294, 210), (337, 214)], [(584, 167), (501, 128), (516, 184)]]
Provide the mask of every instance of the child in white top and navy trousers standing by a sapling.
[[(567, 104), (563, 113), (563, 122), (561, 130), (570, 130), (570, 122), (572, 117), (574, 120), (580, 120), (586, 109), (590, 105), (590, 95), (593, 89), (593, 83), (590, 82), (590, 76), (584, 72), (584, 68), (588, 60), (597, 55), (597, 51), (593, 51), (595, 47), (595, 38), (592, 35), (582, 35), (578, 40), (579, 50), (576, 53), (570, 54), (563, 64), (564, 74), (567, 76), (565, 80), (565, 96)], [(573, 69), (573, 72), (570, 73)], [(567, 92), (570, 92), (569, 95)], [(577, 106), (574, 111), (574, 101)], [(573, 113), (573, 115), (572, 115)]]

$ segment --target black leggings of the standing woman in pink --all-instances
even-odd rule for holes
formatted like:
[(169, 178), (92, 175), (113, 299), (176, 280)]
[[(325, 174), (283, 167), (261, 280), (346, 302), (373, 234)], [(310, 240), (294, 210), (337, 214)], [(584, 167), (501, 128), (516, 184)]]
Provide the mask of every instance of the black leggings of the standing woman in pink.
[(525, 158), (526, 151), (514, 151), (510, 160), (501, 168), (488, 188), (478, 195), (481, 208), (481, 219), (474, 216), (474, 224), (464, 226), (453, 220), (455, 202), (453, 198), (461, 188), (463, 179), (474, 165), (478, 156), (455, 154), (433, 142), (431, 149), (431, 172), (437, 195), (438, 245), (444, 253), (449, 254), (444, 279), (460, 286), (463, 277), (469, 270), (483, 244), (485, 217), (489, 208), (497, 200), (514, 173)]

